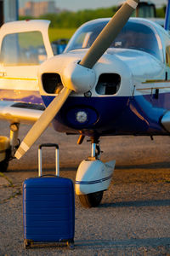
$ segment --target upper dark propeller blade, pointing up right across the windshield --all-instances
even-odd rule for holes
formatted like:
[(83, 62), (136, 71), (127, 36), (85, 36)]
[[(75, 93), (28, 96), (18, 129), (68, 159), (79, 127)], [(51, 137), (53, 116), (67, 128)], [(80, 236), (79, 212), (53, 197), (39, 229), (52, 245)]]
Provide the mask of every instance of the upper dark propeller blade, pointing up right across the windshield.
[(133, 10), (136, 9), (138, 3), (139, 0), (127, 0), (122, 5), (122, 8), (111, 18), (94, 41), (94, 44), (88, 49), (88, 53), (83, 57), (79, 63), (80, 65), (88, 68), (94, 67), (94, 64), (99, 61), (105, 50), (110, 47), (116, 36), (122, 31), (123, 26), (127, 23), (127, 20), (132, 15)]

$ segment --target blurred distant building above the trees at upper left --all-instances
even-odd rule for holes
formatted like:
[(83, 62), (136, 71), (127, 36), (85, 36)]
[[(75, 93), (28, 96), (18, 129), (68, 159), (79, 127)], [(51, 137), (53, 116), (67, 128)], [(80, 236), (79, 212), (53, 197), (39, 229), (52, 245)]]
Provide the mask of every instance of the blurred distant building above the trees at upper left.
[(26, 2), (23, 8), (20, 8), (20, 16), (32, 16), (39, 17), (40, 15), (54, 14), (59, 12), (59, 9), (55, 7), (54, 1), (45, 2)]

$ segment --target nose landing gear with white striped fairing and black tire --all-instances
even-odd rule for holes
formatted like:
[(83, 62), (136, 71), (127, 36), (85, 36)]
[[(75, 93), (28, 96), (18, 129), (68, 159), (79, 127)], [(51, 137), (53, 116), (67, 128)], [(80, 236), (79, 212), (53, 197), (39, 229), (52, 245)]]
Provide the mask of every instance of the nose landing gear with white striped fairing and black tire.
[(82, 207), (98, 207), (102, 201), (104, 191), (111, 183), (115, 167), (115, 160), (103, 163), (99, 160), (101, 150), (99, 140), (91, 141), (92, 154), (88, 160), (82, 160), (76, 177), (76, 193)]

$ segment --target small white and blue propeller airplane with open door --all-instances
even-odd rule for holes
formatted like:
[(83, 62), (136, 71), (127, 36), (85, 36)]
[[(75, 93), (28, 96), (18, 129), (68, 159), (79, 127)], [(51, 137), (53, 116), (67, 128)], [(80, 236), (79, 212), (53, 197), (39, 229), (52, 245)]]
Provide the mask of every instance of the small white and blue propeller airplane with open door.
[[(169, 136), (170, 36), (151, 20), (130, 18), (138, 3), (127, 0), (111, 19), (83, 24), (55, 56), (49, 21), (1, 27), (0, 119), (10, 122), (9, 138), (0, 137), (1, 172), (52, 123), (56, 131), (79, 134), (79, 144), (90, 138), (75, 189), (82, 207), (97, 207), (116, 163), (100, 160), (100, 137)], [(33, 123), (22, 143), (20, 123)]]

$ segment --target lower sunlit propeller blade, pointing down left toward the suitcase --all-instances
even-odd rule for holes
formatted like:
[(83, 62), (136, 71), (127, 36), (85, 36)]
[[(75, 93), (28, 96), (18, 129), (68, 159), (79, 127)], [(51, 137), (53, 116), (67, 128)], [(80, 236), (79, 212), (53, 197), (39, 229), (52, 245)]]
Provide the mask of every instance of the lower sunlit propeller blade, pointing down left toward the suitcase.
[(71, 90), (64, 87), (60, 91), (59, 95), (56, 96), (48, 105), (48, 108), (42, 113), (41, 117), (37, 119), (37, 122), (31, 127), (31, 130), (28, 131), (26, 137), (20, 144), (20, 147), (14, 154), (17, 159), (26, 153), (26, 151), (31, 148), (31, 145), (37, 141), (37, 138), (42, 135), (42, 132), (48, 127), (50, 122), (54, 119), (54, 116), (59, 112), (59, 109), (65, 103), (67, 97), (71, 94)]

